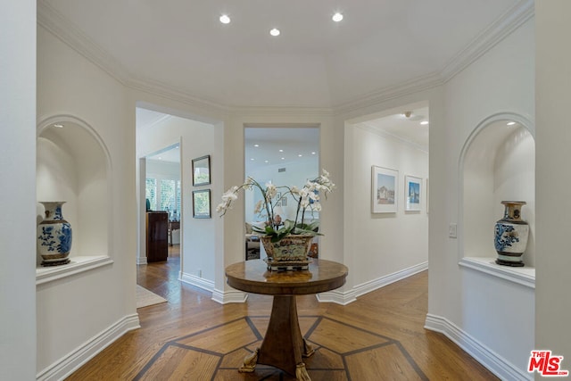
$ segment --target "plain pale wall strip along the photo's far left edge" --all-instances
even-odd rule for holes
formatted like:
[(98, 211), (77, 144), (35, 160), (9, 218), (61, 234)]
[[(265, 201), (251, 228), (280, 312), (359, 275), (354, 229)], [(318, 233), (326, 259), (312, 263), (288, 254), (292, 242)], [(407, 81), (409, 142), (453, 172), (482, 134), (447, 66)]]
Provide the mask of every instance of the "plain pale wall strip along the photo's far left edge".
[(36, 1), (3, 0), (0, 7), (0, 250), (6, 261), (0, 266), (0, 379), (31, 380), (37, 342)]

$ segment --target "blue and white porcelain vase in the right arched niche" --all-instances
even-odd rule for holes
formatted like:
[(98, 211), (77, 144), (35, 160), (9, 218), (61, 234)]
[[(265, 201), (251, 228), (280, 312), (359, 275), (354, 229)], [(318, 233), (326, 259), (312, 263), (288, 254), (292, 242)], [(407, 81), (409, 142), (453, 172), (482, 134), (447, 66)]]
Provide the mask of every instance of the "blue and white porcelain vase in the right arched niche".
[(505, 205), (503, 218), (496, 222), (493, 243), (498, 253), (496, 263), (504, 266), (524, 266), (522, 256), (527, 247), (529, 225), (521, 219), (525, 201), (502, 201)]

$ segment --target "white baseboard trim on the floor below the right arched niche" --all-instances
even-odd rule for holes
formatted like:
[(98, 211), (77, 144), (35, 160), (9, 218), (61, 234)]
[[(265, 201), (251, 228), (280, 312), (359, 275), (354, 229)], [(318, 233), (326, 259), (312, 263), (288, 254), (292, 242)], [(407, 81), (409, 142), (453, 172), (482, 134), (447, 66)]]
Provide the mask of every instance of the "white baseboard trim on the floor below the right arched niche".
[(478, 342), (474, 337), (462, 331), (446, 318), (428, 313), (426, 314), (425, 328), (445, 335), (462, 348), (462, 350), (468, 352), (470, 356), (476, 359), (486, 369), (503, 380), (524, 381), (533, 379), (532, 374), (517, 369), (508, 360)]

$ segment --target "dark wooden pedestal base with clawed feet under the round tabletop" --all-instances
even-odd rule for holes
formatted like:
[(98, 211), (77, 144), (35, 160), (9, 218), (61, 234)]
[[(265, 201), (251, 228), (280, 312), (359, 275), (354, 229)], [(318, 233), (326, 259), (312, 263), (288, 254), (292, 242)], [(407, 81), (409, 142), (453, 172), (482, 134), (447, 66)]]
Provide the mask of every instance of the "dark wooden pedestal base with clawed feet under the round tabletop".
[(282, 369), (298, 380), (310, 381), (302, 357), (310, 357), (312, 354), (311, 345), (302, 337), (295, 296), (275, 295), (268, 331), (261, 347), (247, 356), (244, 366), (238, 370), (250, 373), (256, 364), (265, 364)]

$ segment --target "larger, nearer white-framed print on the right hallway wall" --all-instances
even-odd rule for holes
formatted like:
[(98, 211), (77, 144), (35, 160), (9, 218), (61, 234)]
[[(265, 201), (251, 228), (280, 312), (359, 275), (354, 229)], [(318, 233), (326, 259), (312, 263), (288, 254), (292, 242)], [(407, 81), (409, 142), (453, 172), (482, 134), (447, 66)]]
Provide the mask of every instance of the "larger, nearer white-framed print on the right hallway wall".
[(371, 212), (372, 213), (396, 213), (397, 208), (397, 184), (398, 170), (388, 168), (371, 168)]

